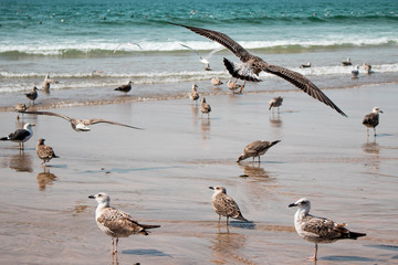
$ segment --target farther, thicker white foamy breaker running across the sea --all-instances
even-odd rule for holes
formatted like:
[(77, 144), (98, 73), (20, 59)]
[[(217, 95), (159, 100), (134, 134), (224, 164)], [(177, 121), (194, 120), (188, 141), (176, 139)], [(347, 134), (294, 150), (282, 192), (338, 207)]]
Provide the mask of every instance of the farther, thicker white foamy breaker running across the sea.
[[(240, 41), (237, 40), (245, 49), (256, 50), (279, 50), (289, 53), (298, 47), (303, 50), (312, 50), (314, 47), (323, 47), (324, 50), (346, 49), (355, 46), (395, 46), (398, 45), (398, 38), (380, 36), (356, 36), (347, 39), (345, 36), (331, 36), (322, 41), (320, 40), (301, 40), (291, 39), (274, 41)], [(78, 55), (114, 55), (115, 53), (145, 53), (145, 52), (189, 52), (181, 44), (188, 45), (197, 51), (212, 51), (220, 47), (219, 44), (209, 41), (185, 41), (174, 40), (168, 42), (137, 42), (136, 45), (127, 45), (127, 43), (109, 43), (109, 42), (87, 42), (87, 43), (57, 43), (52, 42), (33, 42), (29, 45), (0, 42), (0, 55), (21, 56), (21, 55), (42, 55), (42, 56), (78, 56)]]

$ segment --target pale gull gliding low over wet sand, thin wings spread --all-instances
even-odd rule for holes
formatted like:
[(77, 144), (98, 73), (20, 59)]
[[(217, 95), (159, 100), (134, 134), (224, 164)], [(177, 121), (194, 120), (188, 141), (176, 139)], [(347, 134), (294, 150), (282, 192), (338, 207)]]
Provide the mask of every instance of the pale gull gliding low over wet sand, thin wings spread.
[(142, 129), (142, 128), (138, 128), (138, 127), (133, 127), (133, 126), (129, 126), (129, 125), (119, 124), (119, 123), (115, 123), (115, 121), (106, 120), (106, 119), (98, 119), (98, 118), (75, 119), (75, 118), (70, 118), (66, 115), (51, 113), (51, 112), (25, 112), (25, 114), (48, 115), (48, 116), (55, 116), (55, 117), (66, 119), (67, 121), (71, 123), (72, 129), (74, 129), (75, 131), (90, 131), (91, 128), (88, 126), (95, 125), (95, 124), (101, 124), (101, 123), (124, 126), (124, 127), (128, 127), (128, 128), (132, 128), (132, 129)]

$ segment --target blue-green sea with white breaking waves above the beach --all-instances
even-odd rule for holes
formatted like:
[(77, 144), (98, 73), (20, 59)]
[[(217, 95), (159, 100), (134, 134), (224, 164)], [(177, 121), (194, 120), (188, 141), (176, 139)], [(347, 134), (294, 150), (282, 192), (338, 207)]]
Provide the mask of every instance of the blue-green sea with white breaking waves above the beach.
[[(167, 22), (223, 32), (269, 63), (303, 73), (321, 88), (398, 82), (395, 0), (2, 0), (0, 14), (1, 109), (27, 102), (23, 93), (41, 87), (46, 74), (59, 83), (51, 87), (53, 97), (42, 98), (42, 104), (116, 100), (112, 88), (128, 81), (135, 99), (185, 96), (192, 83), (213, 93), (207, 85), (211, 77), (230, 78), (222, 57), (238, 59), (222, 50), (209, 60), (213, 71), (205, 71), (198, 56), (181, 44), (202, 56), (220, 45)], [(345, 82), (354, 68), (341, 66), (346, 57), (354, 65), (371, 64), (373, 76)], [(307, 62), (313, 66), (301, 70)], [(266, 74), (261, 78), (275, 80)]]

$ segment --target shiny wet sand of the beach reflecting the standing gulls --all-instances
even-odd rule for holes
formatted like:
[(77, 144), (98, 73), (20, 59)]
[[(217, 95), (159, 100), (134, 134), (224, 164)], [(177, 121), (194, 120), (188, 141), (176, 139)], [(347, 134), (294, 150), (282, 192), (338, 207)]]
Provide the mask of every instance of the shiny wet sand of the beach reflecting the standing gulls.
[[(75, 132), (63, 119), (25, 115), (36, 125), (25, 151), (0, 142), (0, 263), (312, 264), (314, 244), (298, 237), (287, 208), (302, 197), (313, 214), (367, 233), (321, 244), (317, 264), (397, 263), (398, 86), (325, 93), (348, 118), (300, 91), (210, 95), (209, 120), (188, 97), (49, 109), (145, 130), (100, 124)], [(281, 113), (272, 115), (268, 102), (279, 95)], [(362, 120), (375, 106), (385, 113), (376, 140), (367, 140)], [(20, 126), (15, 117), (0, 113), (2, 135)], [(39, 138), (61, 157), (46, 172), (34, 152)], [(260, 165), (237, 163), (258, 139), (282, 141)], [(253, 223), (218, 226), (209, 186), (224, 186)], [(117, 261), (87, 198), (101, 191), (137, 221), (161, 225), (121, 239)]]

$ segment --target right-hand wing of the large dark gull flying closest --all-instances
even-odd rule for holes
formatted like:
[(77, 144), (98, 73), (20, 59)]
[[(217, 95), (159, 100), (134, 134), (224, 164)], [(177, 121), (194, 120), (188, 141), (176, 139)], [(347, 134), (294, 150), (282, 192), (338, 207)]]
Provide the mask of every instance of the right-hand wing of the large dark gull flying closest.
[(290, 82), (294, 86), (298, 87), (313, 98), (326, 104), (327, 106), (334, 108), (337, 113), (341, 115), (347, 117), (345, 113), (343, 113), (342, 109), (339, 109), (314, 83), (312, 83), (307, 77), (304, 75), (284, 68), (282, 66), (271, 65), (271, 64), (264, 64), (262, 66), (262, 71), (277, 75), (279, 77), (282, 77), (283, 80)]

